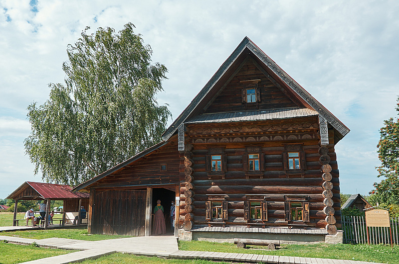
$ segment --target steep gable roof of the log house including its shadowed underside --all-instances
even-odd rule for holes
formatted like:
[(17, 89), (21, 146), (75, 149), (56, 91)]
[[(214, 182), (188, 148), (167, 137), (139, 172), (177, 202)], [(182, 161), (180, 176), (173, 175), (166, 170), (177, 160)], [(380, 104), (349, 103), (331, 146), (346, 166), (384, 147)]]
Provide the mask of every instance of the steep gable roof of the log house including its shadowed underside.
[(197, 96), (186, 107), (186, 109), (164, 132), (162, 137), (165, 141), (167, 141), (177, 131), (181, 124), (189, 121), (190, 117), (193, 117), (198, 113), (200, 105), (206, 104), (206, 101), (211, 99), (210, 96), (214, 97), (214, 95), (211, 94), (212, 89), (216, 87), (217, 84), (221, 85), (221, 83), (228, 81), (226, 76), (232, 74), (233, 69), (236, 68), (248, 54), (265, 69), (272, 79), (278, 81), (283, 88), (300, 99), (306, 107), (315, 110), (320, 116), (324, 117), (324, 119), (326, 119), (327, 122), (339, 132), (337, 142), (350, 131), (348, 127), (346, 127), (337, 117), (318, 102), (310, 93), (296, 83), (295, 80), (284, 72), (248, 37), (245, 37), (227, 60), (220, 66), (212, 78), (201, 89)]

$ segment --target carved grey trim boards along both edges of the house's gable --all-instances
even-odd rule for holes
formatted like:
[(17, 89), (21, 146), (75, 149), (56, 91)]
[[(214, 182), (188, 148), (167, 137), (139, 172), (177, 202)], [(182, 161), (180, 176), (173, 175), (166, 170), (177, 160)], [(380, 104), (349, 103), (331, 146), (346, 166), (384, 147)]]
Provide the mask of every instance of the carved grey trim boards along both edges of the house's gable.
[(259, 47), (257, 47), (248, 37), (245, 37), (237, 46), (234, 52), (227, 58), (227, 60), (220, 66), (212, 78), (200, 90), (197, 96), (191, 101), (186, 109), (179, 115), (171, 126), (162, 135), (163, 139), (167, 141), (178, 129), (178, 127), (186, 121), (194, 109), (199, 105), (205, 95), (215, 86), (220, 78), (226, 73), (229, 67), (236, 61), (238, 56), (243, 51), (250, 51), (256, 56), (264, 66), (270, 69), (276, 78), (279, 78), (286, 88), (293, 90), (302, 100), (304, 100), (313, 110), (317, 111), (330, 123), (341, 135), (344, 137), (350, 130), (337, 117), (335, 117), (327, 108), (318, 102), (310, 93), (302, 88), (295, 80), (293, 80), (286, 72), (284, 72), (273, 60), (271, 60)]

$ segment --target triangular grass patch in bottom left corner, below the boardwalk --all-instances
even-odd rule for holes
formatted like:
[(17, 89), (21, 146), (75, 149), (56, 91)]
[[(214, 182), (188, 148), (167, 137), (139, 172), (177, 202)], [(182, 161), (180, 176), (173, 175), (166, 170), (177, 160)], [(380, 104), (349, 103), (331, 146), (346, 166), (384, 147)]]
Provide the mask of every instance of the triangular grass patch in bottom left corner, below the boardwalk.
[(71, 252), (75, 251), (36, 248), (30, 245), (15, 245), (11, 243), (0, 242), (0, 263), (14, 264), (34, 261), (42, 258), (64, 255)]

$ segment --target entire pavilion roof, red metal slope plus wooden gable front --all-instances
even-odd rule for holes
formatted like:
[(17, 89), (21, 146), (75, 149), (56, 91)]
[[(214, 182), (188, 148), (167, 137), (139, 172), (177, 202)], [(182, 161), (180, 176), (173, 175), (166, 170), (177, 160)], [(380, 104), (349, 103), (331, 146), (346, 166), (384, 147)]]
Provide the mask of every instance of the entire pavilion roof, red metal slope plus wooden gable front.
[(65, 184), (25, 181), (14, 190), (6, 199), (81, 199), (89, 198), (88, 193), (72, 192), (72, 187)]

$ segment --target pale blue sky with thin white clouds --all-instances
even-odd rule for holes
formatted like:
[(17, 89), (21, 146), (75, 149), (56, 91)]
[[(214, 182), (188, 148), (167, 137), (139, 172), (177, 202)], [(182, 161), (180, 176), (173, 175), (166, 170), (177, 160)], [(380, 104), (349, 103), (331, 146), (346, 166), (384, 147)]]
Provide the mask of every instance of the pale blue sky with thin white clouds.
[(67, 45), (128, 22), (169, 70), (157, 99), (173, 118), (249, 37), (349, 127), (335, 148), (341, 192), (367, 194), (379, 129), (397, 116), (398, 13), (396, 0), (0, 0), (0, 198), (42, 181), (25, 155), (27, 106), (64, 83)]

